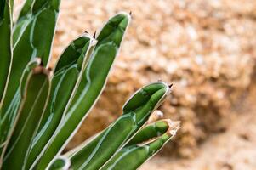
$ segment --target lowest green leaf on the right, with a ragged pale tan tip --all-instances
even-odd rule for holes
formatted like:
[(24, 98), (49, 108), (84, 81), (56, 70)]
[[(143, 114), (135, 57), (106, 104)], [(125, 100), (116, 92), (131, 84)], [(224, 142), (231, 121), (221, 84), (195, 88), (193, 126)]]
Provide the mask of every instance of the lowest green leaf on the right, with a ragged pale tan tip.
[(162, 146), (174, 137), (179, 122), (161, 120), (139, 131), (122, 150), (118, 151), (102, 170), (134, 170), (161, 150)]

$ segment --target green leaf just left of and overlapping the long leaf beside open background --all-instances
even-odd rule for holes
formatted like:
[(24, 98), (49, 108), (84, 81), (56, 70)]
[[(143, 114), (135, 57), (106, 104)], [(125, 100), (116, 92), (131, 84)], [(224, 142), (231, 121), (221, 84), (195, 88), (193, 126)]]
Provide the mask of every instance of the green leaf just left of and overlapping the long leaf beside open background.
[(63, 112), (71, 99), (77, 77), (81, 74), (82, 65), (87, 64), (94, 45), (93, 37), (83, 35), (71, 42), (61, 54), (54, 71), (47, 109), (28, 156), (27, 168), (31, 167), (39, 156), (63, 118)]

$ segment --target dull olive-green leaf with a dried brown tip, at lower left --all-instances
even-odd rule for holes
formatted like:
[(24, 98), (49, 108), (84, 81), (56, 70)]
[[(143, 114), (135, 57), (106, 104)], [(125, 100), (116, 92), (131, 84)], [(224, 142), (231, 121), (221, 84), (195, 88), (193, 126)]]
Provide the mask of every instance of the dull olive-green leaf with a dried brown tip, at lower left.
[[(3, 156), (3, 169), (23, 169), (37, 133), (49, 94), (49, 74), (41, 65), (26, 71), (21, 81), (21, 102)], [(25, 83), (25, 84), (24, 84)]]

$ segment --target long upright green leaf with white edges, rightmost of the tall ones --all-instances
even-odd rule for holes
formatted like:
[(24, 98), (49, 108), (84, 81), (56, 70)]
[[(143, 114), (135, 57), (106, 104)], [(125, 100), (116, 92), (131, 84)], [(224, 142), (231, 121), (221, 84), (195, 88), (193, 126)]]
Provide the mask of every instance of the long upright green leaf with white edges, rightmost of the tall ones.
[[(43, 153), (37, 164), (37, 169), (44, 169), (59, 156), (65, 145), (77, 132), (88, 111), (99, 98), (105, 87), (106, 78), (109, 75), (111, 65), (117, 56), (117, 52), (122, 42), (122, 37), (127, 29), (130, 20), (129, 14), (117, 14), (111, 18), (97, 38), (98, 44), (94, 54), (88, 61), (82, 73), (81, 82), (77, 84), (76, 93), (65, 110), (65, 119), (60, 123), (48, 148)], [(111, 31), (109, 31), (111, 29)]]

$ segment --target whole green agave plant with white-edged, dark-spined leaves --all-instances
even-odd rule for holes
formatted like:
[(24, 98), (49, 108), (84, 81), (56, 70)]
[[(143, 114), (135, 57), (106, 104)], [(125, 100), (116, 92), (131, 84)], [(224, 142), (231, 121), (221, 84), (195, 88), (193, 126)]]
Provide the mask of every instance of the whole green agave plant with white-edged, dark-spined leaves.
[(15, 23), (13, 3), (0, 2), (1, 169), (136, 169), (175, 135), (179, 122), (146, 123), (170, 92), (153, 82), (109, 127), (62, 155), (105, 87), (131, 17), (117, 14), (97, 35), (77, 37), (51, 69), (60, 0), (26, 0)]

